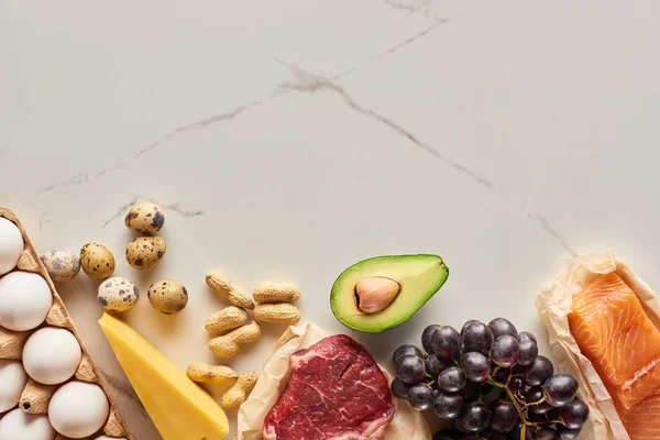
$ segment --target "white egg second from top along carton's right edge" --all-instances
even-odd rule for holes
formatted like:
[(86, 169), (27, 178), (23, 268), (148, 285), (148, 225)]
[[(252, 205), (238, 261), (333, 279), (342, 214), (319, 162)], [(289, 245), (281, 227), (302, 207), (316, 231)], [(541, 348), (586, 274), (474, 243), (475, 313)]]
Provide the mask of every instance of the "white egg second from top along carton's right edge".
[(25, 331), (40, 326), (53, 306), (51, 287), (43, 276), (16, 271), (0, 279), (0, 326)]

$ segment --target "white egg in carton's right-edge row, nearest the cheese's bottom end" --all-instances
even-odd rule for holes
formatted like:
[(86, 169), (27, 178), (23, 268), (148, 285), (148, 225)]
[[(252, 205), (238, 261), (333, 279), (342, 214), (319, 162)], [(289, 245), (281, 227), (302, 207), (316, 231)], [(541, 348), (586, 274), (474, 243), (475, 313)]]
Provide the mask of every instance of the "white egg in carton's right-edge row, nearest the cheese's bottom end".
[(48, 405), (53, 428), (72, 439), (81, 439), (101, 429), (109, 413), (110, 404), (101, 387), (78, 381), (57, 389)]

